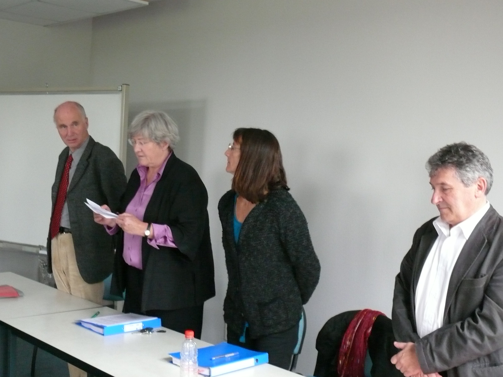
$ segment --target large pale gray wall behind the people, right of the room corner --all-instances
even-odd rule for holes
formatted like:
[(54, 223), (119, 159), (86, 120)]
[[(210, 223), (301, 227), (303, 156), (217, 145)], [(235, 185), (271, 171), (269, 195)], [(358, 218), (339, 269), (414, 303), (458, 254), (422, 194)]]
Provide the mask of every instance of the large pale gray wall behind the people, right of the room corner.
[[(273, 131), (322, 265), (298, 370), (317, 332), (365, 307), (391, 314), (414, 230), (437, 214), (426, 159), (465, 140), (492, 161), (503, 211), (503, 4), (465, 1), (178, 0), (95, 19), (92, 81), (131, 84), (135, 111), (167, 110), (208, 189), (222, 337), (226, 271), (217, 202), (236, 127)], [(192, 143), (192, 144), (191, 144)]]

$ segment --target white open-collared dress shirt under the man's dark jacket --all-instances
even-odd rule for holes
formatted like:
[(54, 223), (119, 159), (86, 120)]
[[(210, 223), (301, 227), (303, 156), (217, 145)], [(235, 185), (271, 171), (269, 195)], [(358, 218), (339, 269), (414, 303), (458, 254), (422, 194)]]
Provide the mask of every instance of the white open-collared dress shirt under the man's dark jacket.
[(452, 228), (440, 217), (433, 221), (439, 236), (425, 260), (415, 293), (415, 322), (420, 337), (442, 327), (452, 270), (466, 240), (488, 209), (489, 202)]

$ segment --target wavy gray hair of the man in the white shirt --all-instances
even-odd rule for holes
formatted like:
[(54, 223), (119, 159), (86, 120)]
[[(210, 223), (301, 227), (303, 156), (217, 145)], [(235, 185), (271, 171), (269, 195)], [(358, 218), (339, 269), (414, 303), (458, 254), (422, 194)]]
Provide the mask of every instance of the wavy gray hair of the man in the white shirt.
[(446, 145), (431, 156), (426, 163), (430, 177), (439, 169), (453, 167), (456, 177), (465, 185), (471, 186), (478, 178), (485, 178), (489, 194), (492, 186), (492, 167), (487, 156), (476, 146), (460, 142)]

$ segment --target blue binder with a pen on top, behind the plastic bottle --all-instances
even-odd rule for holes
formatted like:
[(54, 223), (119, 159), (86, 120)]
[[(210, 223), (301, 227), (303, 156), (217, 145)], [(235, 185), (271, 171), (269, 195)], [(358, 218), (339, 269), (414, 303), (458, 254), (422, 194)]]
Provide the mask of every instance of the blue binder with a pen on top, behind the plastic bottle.
[[(180, 352), (170, 353), (172, 362), (180, 365)], [(200, 374), (215, 376), (269, 361), (267, 352), (251, 351), (226, 342), (198, 348), (197, 363)]]

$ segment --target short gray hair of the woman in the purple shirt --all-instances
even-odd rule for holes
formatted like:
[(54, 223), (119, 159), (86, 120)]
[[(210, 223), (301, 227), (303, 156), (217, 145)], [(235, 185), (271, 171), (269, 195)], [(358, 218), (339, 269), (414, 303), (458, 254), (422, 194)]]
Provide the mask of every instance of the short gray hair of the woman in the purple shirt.
[(142, 135), (156, 143), (163, 141), (173, 147), (180, 137), (178, 126), (169, 115), (162, 111), (145, 110), (134, 117), (129, 126), (128, 137)]

